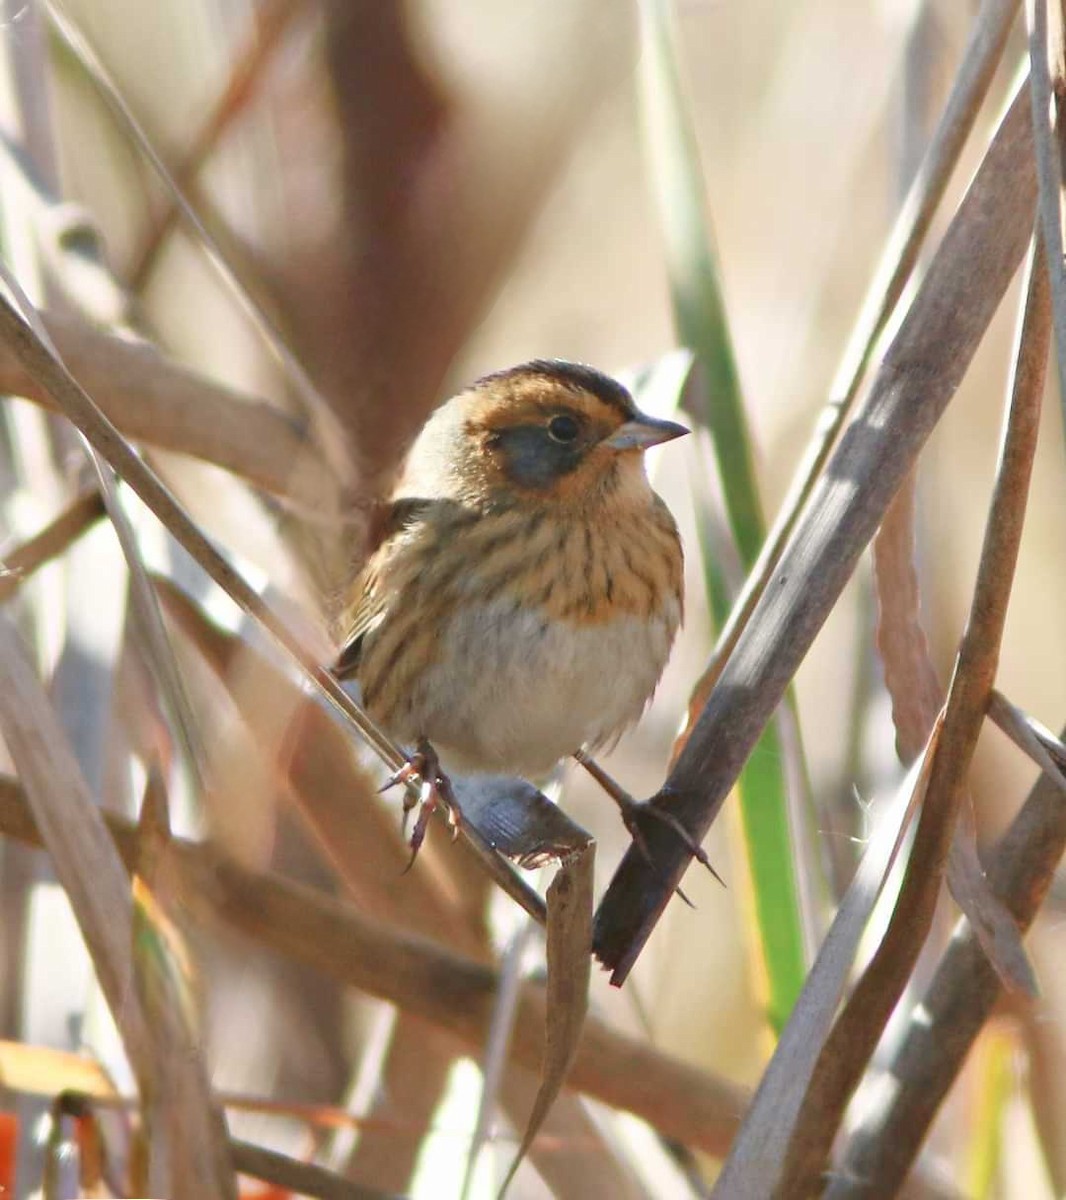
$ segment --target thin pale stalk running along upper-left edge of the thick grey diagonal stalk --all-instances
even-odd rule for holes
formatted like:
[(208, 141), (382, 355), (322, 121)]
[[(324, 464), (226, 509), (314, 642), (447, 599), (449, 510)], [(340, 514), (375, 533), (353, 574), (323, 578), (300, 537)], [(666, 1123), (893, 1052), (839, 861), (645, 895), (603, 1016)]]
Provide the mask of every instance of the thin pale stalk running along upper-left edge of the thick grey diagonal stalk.
[(983, 0), (974, 18), (962, 66), (952, 84), (947, 104), (896, 218), (881, 262), (848, 340), (844, 358), (830, 388), (830, 398), (796, 468), (792, 484), (781, 502), (773, 528), (766, 536), (759, 559), (744, 582), (725, 629), (718, 637), (711, 662), (693, 689), (685, 728), (673, 748), (675, 757), (681, 754), (712, 688), (721, 674), (721, 668), (733, 652), (741, 630), (750, 620), (759, 598), (766, 590), (769, 575), (792, 535), (803, 505), (851, 413), (878, 340), (884, 334), (888, 318), (899, 304), (906, 281), (915, 269), (926, 234), (944, 199), (959, 155), (974, 128), (995, 68), (1002, 58), (1018, 2), (1019, 0)]

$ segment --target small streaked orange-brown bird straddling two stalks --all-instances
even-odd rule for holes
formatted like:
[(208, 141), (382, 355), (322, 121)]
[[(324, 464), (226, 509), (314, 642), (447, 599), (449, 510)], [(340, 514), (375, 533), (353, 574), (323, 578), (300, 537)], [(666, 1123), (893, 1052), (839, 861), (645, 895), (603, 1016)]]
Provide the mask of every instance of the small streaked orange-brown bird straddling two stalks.
[[(415, 748), (390, 779), (423, 784), (412, 862), (436, 808), (454, 832), (461, 821), (449, 774), (544, 779), (640, 718), (684, 576), (643, 454), (688, 432), (610, 376), (547, 359), (487, 374), (430, 416), (342, 600), (334, 664)], [(643, 805), (615, 787), (635, 832)]]

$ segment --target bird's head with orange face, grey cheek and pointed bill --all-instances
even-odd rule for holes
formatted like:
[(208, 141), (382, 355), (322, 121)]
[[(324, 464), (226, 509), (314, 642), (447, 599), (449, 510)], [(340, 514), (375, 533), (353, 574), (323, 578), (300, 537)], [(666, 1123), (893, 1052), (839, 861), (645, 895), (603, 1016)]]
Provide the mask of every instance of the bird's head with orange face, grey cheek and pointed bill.
[(473, 503), (582, 505), (617, 488), (646, 488), (643, 451), (683, 433), (683, 425), (641, 413), (609, 376), (538, 360), (486, 376), (439, 408), (408, 475), (413, 488), (419, 474), (447, 480), (441, 492)]

